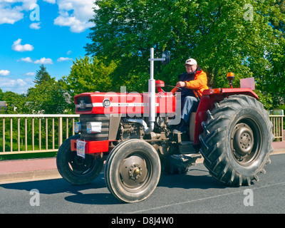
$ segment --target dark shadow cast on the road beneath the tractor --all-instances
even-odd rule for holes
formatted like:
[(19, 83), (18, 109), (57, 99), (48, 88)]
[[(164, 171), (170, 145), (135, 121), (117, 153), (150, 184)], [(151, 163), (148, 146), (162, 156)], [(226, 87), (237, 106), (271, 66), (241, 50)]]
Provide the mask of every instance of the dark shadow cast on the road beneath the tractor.
[[(71, 185), (66, 180), (52, 179), (52, 180), (35, 180), (30, 182), (17, 182), (2, 184), (0, 187), (9, 190), (38, 190), (41, 194), (53, 195), (61, 193), (70, 193), (71, 195), (63, 195), (68, 202), (75, 202), (79, 204), (122, 204), (118, 199), (115, 199), (109, 192), (105, 192), (103, 188), (106, 187), (104, 175), (99, 177), (90, 185)], [(185, 175), (162, 175), (157, 188), (183, 188), (190, 189), (209, 189), (218, 188), (224, 189), (222, 183), (215, 180), (204, 167), (192, 167)], [(84, 194), (83, 190), (94, 190), (94, 193)]]

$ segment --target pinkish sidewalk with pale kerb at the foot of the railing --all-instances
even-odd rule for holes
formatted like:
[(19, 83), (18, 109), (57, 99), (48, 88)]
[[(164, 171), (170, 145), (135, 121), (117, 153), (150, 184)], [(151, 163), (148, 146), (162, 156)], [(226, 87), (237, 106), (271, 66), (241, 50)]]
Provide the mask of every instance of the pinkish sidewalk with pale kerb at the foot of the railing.
[[(273, 142), (272, 146), (273, 154), (285, 153), (285, 141)], [(0, 161), (0, 184), (38, 178), (61, 178), (56, 167), (56, 157)]]

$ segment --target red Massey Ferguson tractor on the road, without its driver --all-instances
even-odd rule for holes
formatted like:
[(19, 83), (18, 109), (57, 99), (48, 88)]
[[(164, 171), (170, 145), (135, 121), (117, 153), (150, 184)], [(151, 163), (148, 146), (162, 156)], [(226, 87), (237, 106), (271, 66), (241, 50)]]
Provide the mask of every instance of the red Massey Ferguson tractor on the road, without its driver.
[[(74, 97), (76, 133), (58, 150), (56, 164), (73, 185), (93, 182), (103, 170), (108, 190), (123, 202), (149, 197), (161, 172), (187, 172), (198, 157), (209, 173), (227, 185), (251, 185), (265, 173), (273, 151), (269, 113), (250, 88), (210, 88), (199, 98), (187, 133), (172, 133), (180, 122), (180, 93), (163, 90), (153, 77), (150, 49), (148, 93), (81, 93)], [(155, 91), (157, 88), (157, 93)], [(183, 155), (181, 157), (181, 155)], [(187, 158), (187, 165), (182, 162)], [(181, 165), (182, 164), (182, 165)]]

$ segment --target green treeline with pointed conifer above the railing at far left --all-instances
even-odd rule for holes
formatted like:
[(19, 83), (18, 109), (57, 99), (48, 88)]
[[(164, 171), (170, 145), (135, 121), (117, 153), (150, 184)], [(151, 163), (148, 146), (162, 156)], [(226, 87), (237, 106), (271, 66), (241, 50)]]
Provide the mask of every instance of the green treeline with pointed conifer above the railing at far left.
[(36, 71), (34, 87), (28, 88), (26, 94), (19, 95), (11, 91), (2, 93), (0, 89), (0, 100), (7, 103), (6, 109), (1, 113), (6, 114), (61, 114), (73, 113), (69, 107), (72, 99), (65, 90), (63, 80), (56, 81), (46, 71), (46, 67), (41, 65)]

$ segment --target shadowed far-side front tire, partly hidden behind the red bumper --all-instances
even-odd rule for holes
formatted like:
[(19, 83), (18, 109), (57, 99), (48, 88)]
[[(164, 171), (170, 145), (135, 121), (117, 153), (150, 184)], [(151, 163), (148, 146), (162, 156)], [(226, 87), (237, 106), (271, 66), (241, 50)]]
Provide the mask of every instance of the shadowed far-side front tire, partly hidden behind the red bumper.
[(95, 155), (80, 157), (76, 151), (71, 151), (71, 140), (80, 139), (80, 135), (73, 135), (63, 142), (56, 155), (58, 172), (64, 180), (73, 185), (86, 185), (95, 180), (103, 168), (103, 160)]

